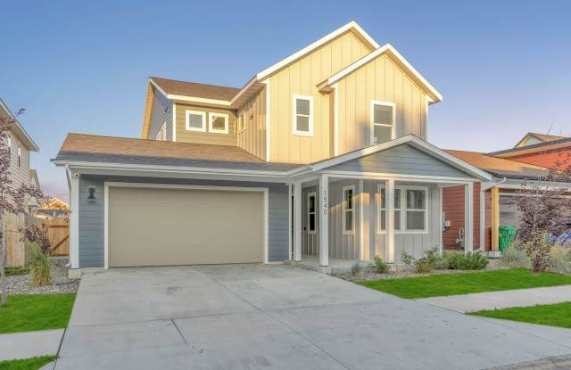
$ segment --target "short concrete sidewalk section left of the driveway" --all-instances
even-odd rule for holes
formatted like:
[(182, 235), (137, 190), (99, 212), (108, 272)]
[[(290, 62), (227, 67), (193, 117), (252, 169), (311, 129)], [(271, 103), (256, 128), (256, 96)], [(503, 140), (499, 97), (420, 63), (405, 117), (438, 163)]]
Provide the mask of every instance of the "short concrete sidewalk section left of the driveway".
[(36, 356), (53, 356), (62, 341), (64, 329), (0, 334), (0, 361)]

